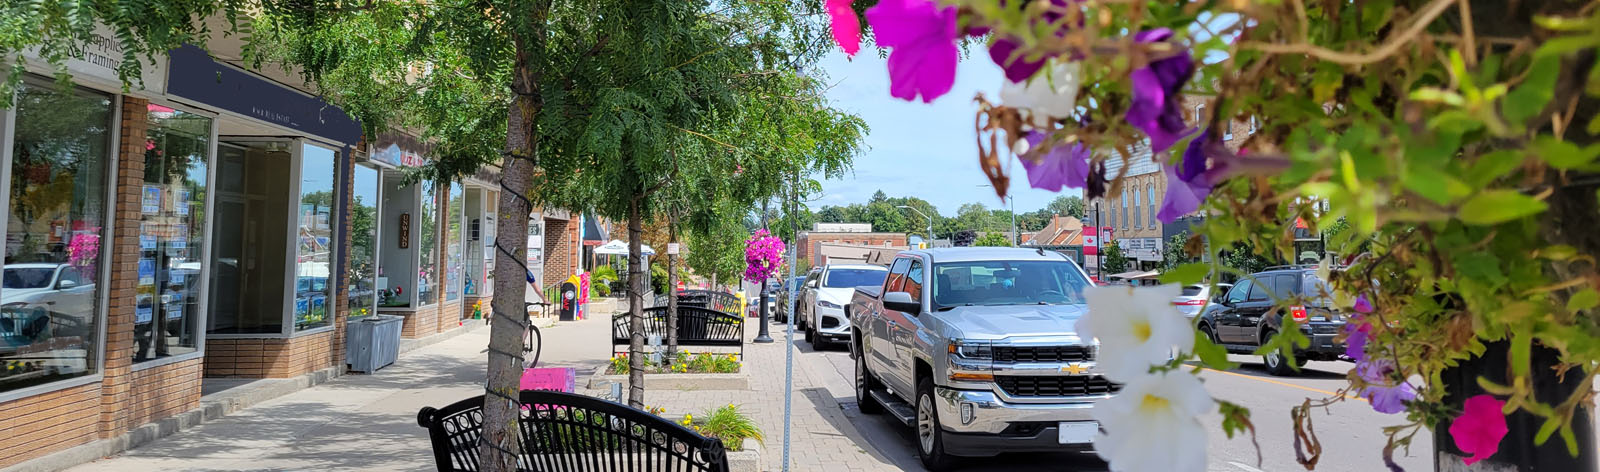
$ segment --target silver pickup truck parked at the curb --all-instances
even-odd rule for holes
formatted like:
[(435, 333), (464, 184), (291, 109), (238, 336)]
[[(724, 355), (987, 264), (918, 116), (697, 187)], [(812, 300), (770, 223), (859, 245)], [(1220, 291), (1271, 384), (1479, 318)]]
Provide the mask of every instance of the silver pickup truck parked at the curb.
[(1120, 386), (1074, 331), (1088, 286), (1054, 251), (901, 253), (848, 307), (861, 411), (914, 426), (933, 470), (952, 456), (1093, 450), (1090, 410)]

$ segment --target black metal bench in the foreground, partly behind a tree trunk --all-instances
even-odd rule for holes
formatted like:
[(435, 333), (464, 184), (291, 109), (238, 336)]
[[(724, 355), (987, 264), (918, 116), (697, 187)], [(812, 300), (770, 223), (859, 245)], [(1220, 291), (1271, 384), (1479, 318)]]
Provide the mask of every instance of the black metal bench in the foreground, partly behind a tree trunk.
[[(563, 392), (523, 390), (517, 419), (518, 470), (707, 470), (726, 472), (722, 440), (627, 405)], [(483, 397), (426, 406), (438, 470), (482, 470)]]

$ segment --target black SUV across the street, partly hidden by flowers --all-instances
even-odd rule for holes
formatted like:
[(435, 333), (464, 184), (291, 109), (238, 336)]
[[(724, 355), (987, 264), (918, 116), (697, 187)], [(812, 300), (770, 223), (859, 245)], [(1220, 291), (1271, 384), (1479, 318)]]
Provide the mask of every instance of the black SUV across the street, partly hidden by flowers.
[[(1331, 293), (1328, 283), (1317, 278), (1315, 266), (1269, 267), (1216, 294), (1200, 315), (1200, 331), (1227, 352), (1251, 354), (1282, 330), (1288, 314), (1310, 338), (1310, 347), (1294, 352), (1296, 366), (1306, 360), (1339, 360), (1344, 342), (1333, 338), (1344, 328), (1344, 314), (1333, 306)], [(1275, 376), (1294, 373), (1277, 350), (1267, 354), (1264, 363)]]

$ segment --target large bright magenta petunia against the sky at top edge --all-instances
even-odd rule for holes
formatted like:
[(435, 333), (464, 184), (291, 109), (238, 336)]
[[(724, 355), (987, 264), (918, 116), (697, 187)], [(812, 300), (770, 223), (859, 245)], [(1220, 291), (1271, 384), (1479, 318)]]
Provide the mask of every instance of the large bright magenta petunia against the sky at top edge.
[(883, 0), (867, 10), (877, 42), (890, 48), (890, 94), (923, 102), (955, 85), (955, 40), (962, 37), (955, 6), (933, 0)]

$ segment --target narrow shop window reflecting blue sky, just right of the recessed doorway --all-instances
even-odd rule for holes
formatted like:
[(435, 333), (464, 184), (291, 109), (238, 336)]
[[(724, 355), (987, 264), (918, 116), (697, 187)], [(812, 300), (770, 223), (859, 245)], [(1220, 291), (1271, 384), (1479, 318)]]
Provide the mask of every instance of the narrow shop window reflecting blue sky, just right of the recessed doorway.
[(296, 218), (294, 330), (326, 326), (333, 286), (333, 182), (338, 154), (333, 149), (301, 146), (301, 195)]

